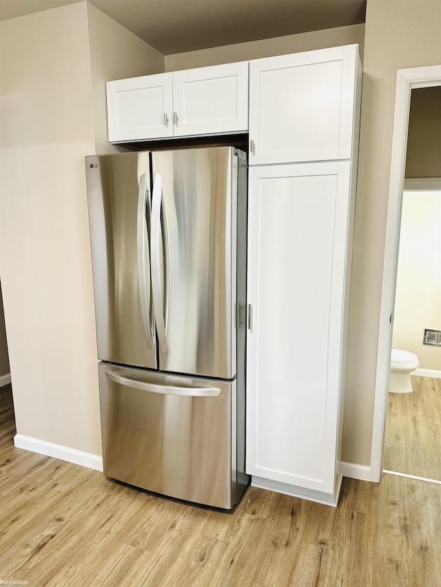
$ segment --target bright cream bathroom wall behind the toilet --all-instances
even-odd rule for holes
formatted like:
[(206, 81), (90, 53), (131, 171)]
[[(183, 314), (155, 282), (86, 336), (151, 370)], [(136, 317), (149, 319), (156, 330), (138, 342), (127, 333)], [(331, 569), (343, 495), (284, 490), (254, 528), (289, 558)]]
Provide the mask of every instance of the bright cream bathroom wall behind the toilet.
[(441, 371), (441, 347), (423, 345), (441, 330), (441, 191), (405, 191), (393, 321), (393, 348), (414, 352), (421, 369)]

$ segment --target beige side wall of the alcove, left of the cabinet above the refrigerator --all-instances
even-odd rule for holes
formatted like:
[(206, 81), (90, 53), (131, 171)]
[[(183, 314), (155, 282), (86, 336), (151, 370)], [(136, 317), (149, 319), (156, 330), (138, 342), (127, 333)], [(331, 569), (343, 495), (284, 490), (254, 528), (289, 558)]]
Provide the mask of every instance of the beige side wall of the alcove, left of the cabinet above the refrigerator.
[(89, 3), (88, 26), (96, 154), (103, 155), (122, 150), (107, 140), (105, 83), (162, 73), (164, 56)]

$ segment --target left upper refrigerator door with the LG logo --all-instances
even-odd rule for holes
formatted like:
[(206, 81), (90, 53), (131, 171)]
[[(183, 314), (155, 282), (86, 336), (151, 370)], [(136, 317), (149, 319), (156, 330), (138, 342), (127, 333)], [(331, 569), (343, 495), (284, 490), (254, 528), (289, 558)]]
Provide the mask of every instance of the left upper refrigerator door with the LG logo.
[(85, 158), (98, 356), (156, 367), (149, 153)]

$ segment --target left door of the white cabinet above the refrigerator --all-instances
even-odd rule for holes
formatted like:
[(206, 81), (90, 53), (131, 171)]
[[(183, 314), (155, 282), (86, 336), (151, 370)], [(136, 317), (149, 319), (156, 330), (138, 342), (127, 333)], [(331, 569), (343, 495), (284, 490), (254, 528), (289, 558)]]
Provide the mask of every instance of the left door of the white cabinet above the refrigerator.
[(172, 74), (107, 82), (109, 141), (173, 136)]

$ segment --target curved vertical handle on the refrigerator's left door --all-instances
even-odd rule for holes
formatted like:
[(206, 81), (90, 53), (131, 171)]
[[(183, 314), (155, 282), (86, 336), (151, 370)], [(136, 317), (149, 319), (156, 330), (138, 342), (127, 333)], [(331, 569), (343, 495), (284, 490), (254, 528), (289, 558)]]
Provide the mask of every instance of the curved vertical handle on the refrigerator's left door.
[[(148, 242), (146, 231), (147, 222), (150, 222), (150, 202), (148, 198), (149, 191), (147, 189), (147, 173), (141, 175), (139, 181), (138, 192), (138, 214), (136, 220), (136, 238), (137, 238), (137, 252), (138, 252), (138, 287), (139, 287), (139, 301), (141, 303), (141, 317), (143, 320), (145, 340), (147, 347), (154, 350), (152, 323), (150, 317), (150, 283), (147, 281), (147, 275), (150, 273), (150, 267), (146, 268), (145, 262), (148, 258), (146, 254), (146, 242)], [(147, 211), (147, 217), (145, 215)], [(147, 297), (147, 292), (149, 296)]]

